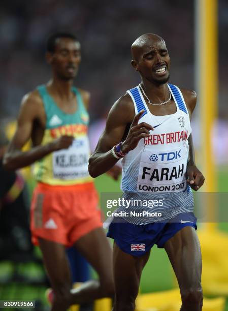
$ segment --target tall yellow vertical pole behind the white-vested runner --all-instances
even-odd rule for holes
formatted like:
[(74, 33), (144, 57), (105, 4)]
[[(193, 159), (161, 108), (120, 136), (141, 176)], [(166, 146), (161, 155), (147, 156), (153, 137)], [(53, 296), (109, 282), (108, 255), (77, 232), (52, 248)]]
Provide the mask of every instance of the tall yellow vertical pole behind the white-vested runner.
[[(201, 155), (202, 172), (206, 181), (204, 192), (216, 192), (217, 177), (212, 150), (212, 131), (217, 117), (218, 95), (218, 1), (196, 0), (198, 6), (198, 74), (199, 74), (199, 106), (201, 120)], [(209, 215), (216, 217), (213, 202), (204, 202)], [(216, 204), (216, 203), (215, 203)], [(214, 219), (214, 218), (213, 218)], [(208, 223), (209, 230), (215, 230), (215, 223)]]

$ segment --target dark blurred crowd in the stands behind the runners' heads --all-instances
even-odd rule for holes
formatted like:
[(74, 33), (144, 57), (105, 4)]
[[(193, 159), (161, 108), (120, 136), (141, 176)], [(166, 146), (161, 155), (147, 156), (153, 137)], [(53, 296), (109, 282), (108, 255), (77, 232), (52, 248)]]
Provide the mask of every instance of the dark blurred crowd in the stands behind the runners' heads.
[[(227, 120), (228, 3), (218, 3), (219, 117)], [(130, 63), (130, 47), (143, 33), (157, 33), (166, 40), (171, 56), (170, 81), (197, 88), (194, 1), (2, 0), (0, 6), (2, 118), (15, 118), (23, 95), (49, 80), (45, 41), (56, 31), (72, 32), (82, 44), (76, 85), (91, 92), (91, 123), (106, 117), (115, 100), (139, 83)]]

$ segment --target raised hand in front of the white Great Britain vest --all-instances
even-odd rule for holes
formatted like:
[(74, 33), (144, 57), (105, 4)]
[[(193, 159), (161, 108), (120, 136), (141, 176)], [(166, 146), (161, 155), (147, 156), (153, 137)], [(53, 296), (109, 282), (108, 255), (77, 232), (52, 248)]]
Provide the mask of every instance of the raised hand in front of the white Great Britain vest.
[[(148, 137), (150, 132), (154, 128), (151, 127), (148, 123), (142, 122), (139, 123), (140, 117), (143, 115), (144, 110), (141, 110), (138, 114), (135, 115), (132, 125), (129, 129), (128, 135), (124, 142), (122, 143), (121, 150), (122, 152), (128, 152), (135, 149), (141, 138)], [(138, 124), (139, 123), (139, 124)]]

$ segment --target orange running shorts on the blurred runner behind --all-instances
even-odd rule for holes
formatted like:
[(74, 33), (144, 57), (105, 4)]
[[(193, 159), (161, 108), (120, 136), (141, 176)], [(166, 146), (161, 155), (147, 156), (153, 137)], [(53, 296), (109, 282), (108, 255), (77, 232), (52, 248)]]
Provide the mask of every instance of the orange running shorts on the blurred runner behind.
[(31, 202), (32, 242), (38, 237), (72, 246), (80, 237), (102, 227), (93, 182), (76, 185), (38, 183)]

